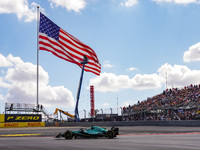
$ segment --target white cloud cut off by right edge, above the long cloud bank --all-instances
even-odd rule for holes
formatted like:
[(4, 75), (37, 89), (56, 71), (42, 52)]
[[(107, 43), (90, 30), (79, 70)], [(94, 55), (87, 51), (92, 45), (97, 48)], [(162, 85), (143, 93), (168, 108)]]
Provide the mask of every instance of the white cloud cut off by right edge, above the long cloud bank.
[(184, 62), (200, 61), (200, 42), (192, 45), (183, 55)]

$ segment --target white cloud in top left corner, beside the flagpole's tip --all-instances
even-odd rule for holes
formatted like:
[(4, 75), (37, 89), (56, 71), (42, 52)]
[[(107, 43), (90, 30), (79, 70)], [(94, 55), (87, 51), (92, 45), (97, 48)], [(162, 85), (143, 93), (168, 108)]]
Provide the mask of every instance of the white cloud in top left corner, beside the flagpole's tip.
[(19, 20), (31, 22), (37, 18), (37, 5), (35, 2), (29, 5), (27, 0), (1, 0), (0, 14), (14, 13)]

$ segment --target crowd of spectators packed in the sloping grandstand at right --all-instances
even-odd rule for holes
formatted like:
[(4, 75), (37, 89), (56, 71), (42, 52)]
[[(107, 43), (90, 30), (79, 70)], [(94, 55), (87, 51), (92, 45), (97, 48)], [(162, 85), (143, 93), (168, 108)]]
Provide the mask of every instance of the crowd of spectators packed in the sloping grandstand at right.
[(200, 85), (166, 89), (161, 94), (123, 107), (127, 120), (197, 120), (200, 119)]

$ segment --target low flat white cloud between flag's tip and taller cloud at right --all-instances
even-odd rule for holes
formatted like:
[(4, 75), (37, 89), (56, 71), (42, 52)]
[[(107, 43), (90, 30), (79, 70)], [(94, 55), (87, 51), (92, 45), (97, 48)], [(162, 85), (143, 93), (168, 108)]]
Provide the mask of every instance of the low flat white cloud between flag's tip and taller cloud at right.
[(162, 78), (157, 74), (137, 74), (132, 79), (127, 75), (115, 75), (113, 73), (102, 73), (100, 76), (91, 79), (90, 85), (100, 92), (116, 92), (121, 89), (132, 88), (134, 90), (160, 88)]

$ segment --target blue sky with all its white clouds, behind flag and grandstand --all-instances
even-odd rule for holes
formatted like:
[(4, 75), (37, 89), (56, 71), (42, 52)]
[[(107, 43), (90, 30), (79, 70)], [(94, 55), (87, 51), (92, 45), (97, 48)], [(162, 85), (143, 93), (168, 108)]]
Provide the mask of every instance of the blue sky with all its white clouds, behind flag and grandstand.
[[(1, 113), (5, 102), (36, 104), (37, 5), (102, 65), (100, 76), (84, 74), (80, 113), (90, 110), (89, 85), (95, 108), (110, 113), (200, 84), (199, 0), (0, 0)], [(46, 51), (39, 64), (39, 103), (73, 113), (81, 69)]]

